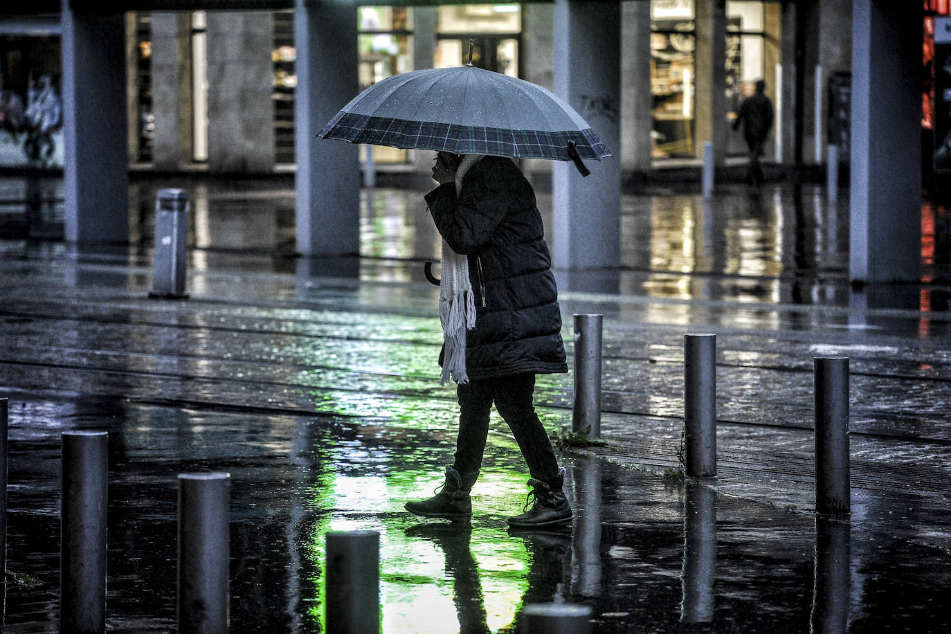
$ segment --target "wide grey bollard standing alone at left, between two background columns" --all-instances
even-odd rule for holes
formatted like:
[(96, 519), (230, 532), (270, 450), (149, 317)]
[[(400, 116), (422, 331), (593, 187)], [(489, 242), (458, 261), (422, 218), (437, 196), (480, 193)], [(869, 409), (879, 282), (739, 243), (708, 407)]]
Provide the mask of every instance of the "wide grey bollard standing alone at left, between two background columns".
[(150, 298), (187, 298), (188, 192), (160, 189), (155, 201), (155, 262)]

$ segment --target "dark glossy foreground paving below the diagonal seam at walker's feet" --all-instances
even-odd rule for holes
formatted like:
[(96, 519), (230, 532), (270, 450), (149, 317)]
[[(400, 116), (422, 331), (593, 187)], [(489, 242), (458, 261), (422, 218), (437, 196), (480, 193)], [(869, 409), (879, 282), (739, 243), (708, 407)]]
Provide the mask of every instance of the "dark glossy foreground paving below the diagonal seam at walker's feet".
[[(231, 618), (240, 631), (321, 631), (323, 535), (380, 533), (383, 631), (516, 631), (525, 605), (592, 606), (595, 631), (944, 631), (948, 555), (841, 521), (564, 456), (573, 531), (514, 532), (524, 468), (494, 433), (471, 524), (419, 521), (451, 429), (50, 401), (46, 434), (10, 433), (7, 624), (54, 620), (58, 432), (109, 432), (110, 624), (174, 621), (175, 475), (231, 474)], [(421, 429), (420, 429), (421, 428)], [(23, 430), (25, 431), (25, 430)], [(922, 578), (911, 562), (927, 561)], [(885, 599), (886, 598), (886, 599)], [(421, 605), (425, 609), (419, 609)], [(847, 626), (846, 626), (847, 625)], [(10, 629), (10, 631), (18, 631)]]

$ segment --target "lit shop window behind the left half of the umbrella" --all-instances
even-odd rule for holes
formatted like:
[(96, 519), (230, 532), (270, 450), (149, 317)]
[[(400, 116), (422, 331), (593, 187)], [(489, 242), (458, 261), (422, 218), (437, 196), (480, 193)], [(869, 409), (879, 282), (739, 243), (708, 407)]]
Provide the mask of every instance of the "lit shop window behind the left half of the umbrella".
[[(360, 88), (413, 70), (413, 11), (407, 7), (360, 7), (359, 85)], [(362, 159), (367, 159), (361, 147)], [(375, 145), (376, 163), (406, 163), (409, 154), (404, 149)]]

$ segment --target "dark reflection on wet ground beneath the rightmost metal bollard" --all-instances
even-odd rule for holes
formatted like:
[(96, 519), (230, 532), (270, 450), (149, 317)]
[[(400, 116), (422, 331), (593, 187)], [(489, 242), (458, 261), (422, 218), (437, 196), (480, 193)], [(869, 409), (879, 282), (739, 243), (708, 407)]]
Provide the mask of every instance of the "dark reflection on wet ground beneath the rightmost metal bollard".
[(848, 629), (851, 530), (847, 522), (816, 516), (815, 574), (809, 617), (813, 632), (844, 634)]

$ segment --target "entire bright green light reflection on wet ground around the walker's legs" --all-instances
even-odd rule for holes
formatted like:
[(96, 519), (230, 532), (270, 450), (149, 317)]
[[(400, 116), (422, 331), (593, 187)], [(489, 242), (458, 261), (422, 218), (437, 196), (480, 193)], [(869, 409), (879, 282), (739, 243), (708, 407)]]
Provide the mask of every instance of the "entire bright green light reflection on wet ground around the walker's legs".
[[(375, 320), (369, 327), (379, 325)], [(314, 386), (313, 407), (361, 424), (316, 433), (323, 437), (301, 451), (302, 461), (320, 473), (314, 480), (312, 472), (301, 472), (312, 484), (296, 500), (309, 518), (297, 545), (307, 571), (304, 625), (325, 629), (325, 533), (371, 529), (380, 533), (382, 631), (510, 631), (529, 589), (532, 555), (522, 538), (506, 531), (504, 518), (521, 511), (527, 475), (490, 461), (473, 490), (474, 523), (461, 531), (403, 509), (406, 500), (433, 494), (456, 440), (455, 391), (438, 386), (437, 346), (316, 337), (308, 344), (295, 351), (310, 368), (297, 382)], [(348, 390), (331, 387), (340, 386), (340, 377), (330, 376), (339, 372), (349, 377)], [(499, 425), (504, 428), (496, 417), (494, 429)], [(511, 438), (494, 435), (491, 444), (518, 456)]]

